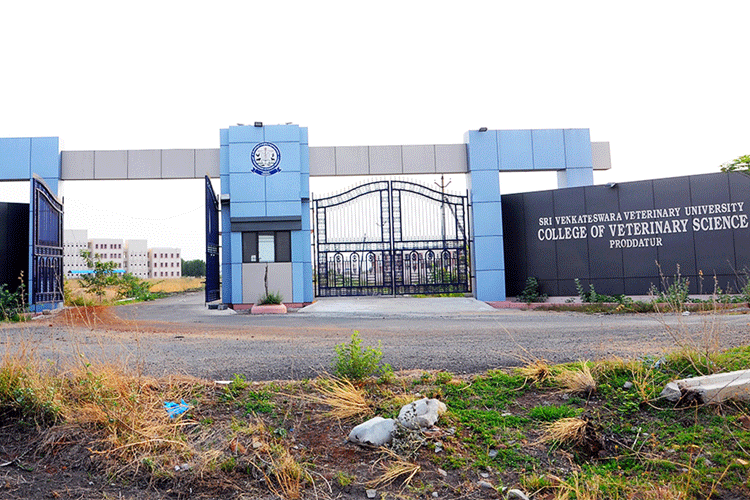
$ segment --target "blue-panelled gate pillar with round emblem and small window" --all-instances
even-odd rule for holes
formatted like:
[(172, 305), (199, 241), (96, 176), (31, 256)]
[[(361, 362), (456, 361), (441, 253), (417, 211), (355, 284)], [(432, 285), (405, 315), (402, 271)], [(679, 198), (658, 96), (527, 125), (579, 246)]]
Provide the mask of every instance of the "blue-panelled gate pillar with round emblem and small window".
[(223, 301), (312, 302), (307, 128), (238, 125), (220, 138)]

